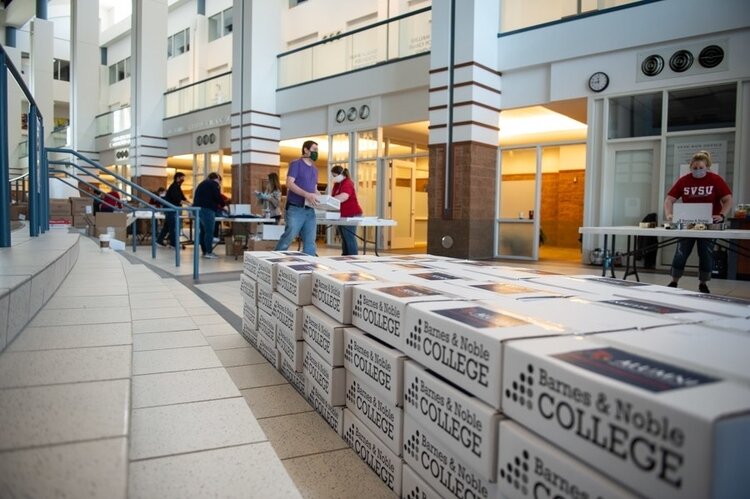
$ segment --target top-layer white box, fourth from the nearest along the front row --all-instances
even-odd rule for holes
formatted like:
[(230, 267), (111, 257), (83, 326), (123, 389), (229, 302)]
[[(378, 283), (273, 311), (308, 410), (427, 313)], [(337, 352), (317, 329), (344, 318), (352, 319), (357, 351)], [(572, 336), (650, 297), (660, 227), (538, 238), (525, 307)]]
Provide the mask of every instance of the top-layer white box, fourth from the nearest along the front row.
[(366, 272), (321, 272), (312, 275), (311, 303), (341, 324), (352, 323), (352, 286), (377, 282)]

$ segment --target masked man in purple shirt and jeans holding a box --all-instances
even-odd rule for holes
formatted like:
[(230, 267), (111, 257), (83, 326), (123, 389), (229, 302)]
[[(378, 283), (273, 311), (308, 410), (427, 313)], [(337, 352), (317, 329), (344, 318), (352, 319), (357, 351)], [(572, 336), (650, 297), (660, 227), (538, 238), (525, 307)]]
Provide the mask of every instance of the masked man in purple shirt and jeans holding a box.
[[(302, 157), (289, 164), (286, 176), (286, 227), (281, 235), (277, 250), (287, 250), (299, 235), (302, 238), (302, 251), (315, 256), (315, 210), (318, 204), (318, 143), (312, 140), (302, 144)], [(305, 206), (307, 204), (312, 206)]]

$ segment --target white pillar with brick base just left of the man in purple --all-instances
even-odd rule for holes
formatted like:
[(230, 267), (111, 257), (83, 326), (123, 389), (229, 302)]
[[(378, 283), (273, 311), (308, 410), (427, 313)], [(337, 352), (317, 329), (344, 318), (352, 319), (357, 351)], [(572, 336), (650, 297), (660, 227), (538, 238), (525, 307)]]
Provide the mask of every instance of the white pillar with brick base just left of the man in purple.
[(285, 2), (234, 0), (233, 5), (232, 200), (251, 203), (261, 181), (279, 170), (276, 54)]

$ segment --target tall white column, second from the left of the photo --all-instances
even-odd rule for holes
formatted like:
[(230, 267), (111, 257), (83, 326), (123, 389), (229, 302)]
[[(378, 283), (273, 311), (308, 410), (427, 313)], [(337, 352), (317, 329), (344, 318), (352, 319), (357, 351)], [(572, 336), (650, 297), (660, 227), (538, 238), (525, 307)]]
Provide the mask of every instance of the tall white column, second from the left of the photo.
[(98, 161), (94, 138), (99, 114), (99, 0), (70, 4), (70, 126), (72, 148)]

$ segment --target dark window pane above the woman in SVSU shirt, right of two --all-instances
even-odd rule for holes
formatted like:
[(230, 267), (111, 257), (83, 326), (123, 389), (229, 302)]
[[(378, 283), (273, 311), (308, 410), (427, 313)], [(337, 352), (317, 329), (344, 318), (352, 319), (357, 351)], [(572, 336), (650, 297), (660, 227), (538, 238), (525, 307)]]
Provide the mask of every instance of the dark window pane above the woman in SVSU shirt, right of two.
[(734, 127), (736, 106), (734, 84), (669, 92), (667, 131)]

